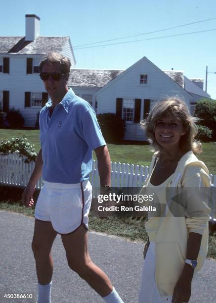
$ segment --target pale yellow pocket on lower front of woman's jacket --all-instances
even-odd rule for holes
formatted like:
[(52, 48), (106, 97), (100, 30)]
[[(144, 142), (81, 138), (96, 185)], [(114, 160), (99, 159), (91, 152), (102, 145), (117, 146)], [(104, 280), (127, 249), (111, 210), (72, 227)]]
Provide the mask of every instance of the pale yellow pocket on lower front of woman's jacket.
[(156, 243), (156, 281), (162, 295), (173, 295), (184, 260), (178, 242)]

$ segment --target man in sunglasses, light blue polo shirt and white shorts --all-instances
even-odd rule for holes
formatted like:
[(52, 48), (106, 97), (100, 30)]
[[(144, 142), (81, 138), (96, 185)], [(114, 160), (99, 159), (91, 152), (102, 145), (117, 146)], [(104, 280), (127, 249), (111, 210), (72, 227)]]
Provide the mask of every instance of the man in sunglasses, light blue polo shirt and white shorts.
[(106, 274), (87, 252), (91, 203), (92, 150), (98, 160), (101, 187), (110, 187), (110, 156), (93, 108), (68, 89), (70, 60), (50, 52), (40, 63), (40, 77), (50, 100), (40, 112), (40, 150), (23, 192), (23, 203), (34, 205), (35, 185), (44, 185), (35, 209), (32, 250), (38, 276), (38, 303), (50, 303), (53, 263), (51, 247), (59, 233), (68, 264), (109, 303), (123, 303)]

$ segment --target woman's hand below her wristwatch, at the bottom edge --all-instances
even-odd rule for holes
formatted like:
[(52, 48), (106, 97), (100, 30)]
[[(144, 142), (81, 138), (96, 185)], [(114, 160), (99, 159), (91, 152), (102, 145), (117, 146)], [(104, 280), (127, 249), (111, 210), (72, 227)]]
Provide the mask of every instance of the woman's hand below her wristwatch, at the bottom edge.
[(185, 264), (182, 274), (174, 287), (173, 303), (184, 303), (190, 300), (193, 272), (193, 268)]

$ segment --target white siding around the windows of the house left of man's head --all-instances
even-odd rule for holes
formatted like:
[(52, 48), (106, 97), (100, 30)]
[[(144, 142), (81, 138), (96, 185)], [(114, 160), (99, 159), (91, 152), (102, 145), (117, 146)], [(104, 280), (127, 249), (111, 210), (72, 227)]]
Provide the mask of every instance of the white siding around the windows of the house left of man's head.
[[(33, 57), (34, 56), (29, 56)], [(36, 57), (39, 59), (39, 56)], [(26, 74), (26, 57), (10, 57), (10, 73), (0, 73), (0, 91), (9, 91), (9, 107), (19, 108), (24, 126), (34, 127), (40, 107), (25, 108), (25, 92), (45, 92), (38, 73)]]

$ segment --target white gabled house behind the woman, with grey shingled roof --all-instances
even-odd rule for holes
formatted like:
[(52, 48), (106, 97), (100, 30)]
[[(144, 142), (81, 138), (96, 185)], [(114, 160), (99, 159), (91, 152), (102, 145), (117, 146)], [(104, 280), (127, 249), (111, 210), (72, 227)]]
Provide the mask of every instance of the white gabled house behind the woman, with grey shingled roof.
[[(144, 141), (140, 120), (166, 96), (178, 95), (194, 110), (196, 101), (210, 96), (182, 71), (162, 71), (143, 57), (127, 70), (72, 69), (69, 86), (89, 101), (97, 113), (116, 113), (126, 121), (125, 140)], [(198, 84), (197, 84), (198, 83)]]

